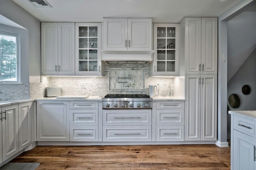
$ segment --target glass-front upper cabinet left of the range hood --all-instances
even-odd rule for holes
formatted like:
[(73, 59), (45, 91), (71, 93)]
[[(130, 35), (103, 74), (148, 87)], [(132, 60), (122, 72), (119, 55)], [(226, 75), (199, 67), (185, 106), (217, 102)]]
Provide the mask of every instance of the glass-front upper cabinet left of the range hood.
[(102, 75), (101, 23), (76, 23), (76, 75)]

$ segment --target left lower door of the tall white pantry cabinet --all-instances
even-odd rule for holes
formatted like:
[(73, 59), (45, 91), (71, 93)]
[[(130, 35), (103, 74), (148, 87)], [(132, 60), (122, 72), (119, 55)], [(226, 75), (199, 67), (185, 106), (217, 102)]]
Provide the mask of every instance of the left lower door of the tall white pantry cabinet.
[(200, 77), (186, 76), (185, 140), (200, 140)]

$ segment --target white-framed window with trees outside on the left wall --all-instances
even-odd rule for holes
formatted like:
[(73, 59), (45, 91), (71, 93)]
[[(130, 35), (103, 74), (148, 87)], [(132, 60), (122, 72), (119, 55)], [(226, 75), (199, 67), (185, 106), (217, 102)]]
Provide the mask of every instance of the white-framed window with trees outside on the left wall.
[(20, 36), (0, 30), (0, 82), (20, 82)]

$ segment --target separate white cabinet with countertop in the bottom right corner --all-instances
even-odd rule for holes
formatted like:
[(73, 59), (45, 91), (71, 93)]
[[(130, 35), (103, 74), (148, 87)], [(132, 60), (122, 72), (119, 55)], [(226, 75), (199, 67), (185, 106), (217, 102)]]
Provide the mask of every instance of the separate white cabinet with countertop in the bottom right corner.
[[(242, 112), (251, 112), (250, 114)], [(231, 114), (231, 169), (256, 169), (256, 117), (254, 111), (229, 111)], [(249, 116), (251, 115), (251, 116)]]

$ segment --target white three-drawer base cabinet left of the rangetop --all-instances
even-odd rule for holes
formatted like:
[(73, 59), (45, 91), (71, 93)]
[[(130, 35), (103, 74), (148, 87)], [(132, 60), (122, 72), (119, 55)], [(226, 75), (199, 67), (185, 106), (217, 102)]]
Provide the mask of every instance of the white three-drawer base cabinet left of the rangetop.
[(98, 101), (70, 101), (71, 142), (98, 142)]

